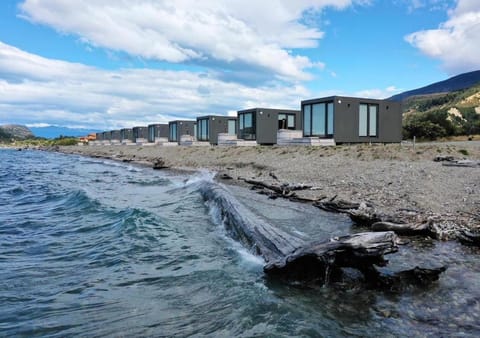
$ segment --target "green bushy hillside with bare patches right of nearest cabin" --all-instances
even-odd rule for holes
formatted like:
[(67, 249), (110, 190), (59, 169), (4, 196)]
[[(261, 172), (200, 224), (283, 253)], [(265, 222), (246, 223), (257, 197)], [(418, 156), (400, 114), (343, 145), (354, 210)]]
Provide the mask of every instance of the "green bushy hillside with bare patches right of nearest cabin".
[(433, 140), (480, 134), (480, 84), (459, 91), (412, 96), (403, 101), (404, 138)]

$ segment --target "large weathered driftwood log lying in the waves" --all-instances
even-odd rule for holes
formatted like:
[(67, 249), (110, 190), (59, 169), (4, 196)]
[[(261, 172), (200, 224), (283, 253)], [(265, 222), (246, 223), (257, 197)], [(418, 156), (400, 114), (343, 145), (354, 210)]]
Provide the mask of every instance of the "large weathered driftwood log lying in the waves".
[(253, 214), (219, 184), (203, 182), (199, 191), (206, 202), (219, 211), (218, 216), (232, 237), (263, 257), (264, 271), (272, 277), (323, 285), (341, 278), (343, 268), (354, 268), (362, 273), (369, 286), (397, 289), (401, 284), (437, 280), (445, 270), (416, 267), (384, 276), (376, 266), (385, 266), (388, 261), (383, 255), (398, 250), (398, 237), (392, 231), (308, 243)]

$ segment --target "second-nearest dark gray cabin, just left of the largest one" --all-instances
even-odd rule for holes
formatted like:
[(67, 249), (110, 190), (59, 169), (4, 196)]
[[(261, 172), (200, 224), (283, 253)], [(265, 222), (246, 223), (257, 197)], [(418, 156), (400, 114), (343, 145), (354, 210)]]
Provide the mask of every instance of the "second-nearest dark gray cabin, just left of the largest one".
[(257, 141), (258, 144), (276, 144), (279, 129), (302, 130), (299, 110), (253, 108), (237, 112), (237, 137)]

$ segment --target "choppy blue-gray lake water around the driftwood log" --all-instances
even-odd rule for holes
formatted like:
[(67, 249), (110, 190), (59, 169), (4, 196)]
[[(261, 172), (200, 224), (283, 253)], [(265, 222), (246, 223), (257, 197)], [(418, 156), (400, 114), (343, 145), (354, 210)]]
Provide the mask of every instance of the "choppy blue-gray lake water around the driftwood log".
[[(193, 175), (0, 150), (0, 336), (479, 336), (479, 251), (415, 239), (388, 269), (447, 265), (400, 293), (267, 279)], [(342, 215), (230, 187), (308, 239), (358, 231)]]

